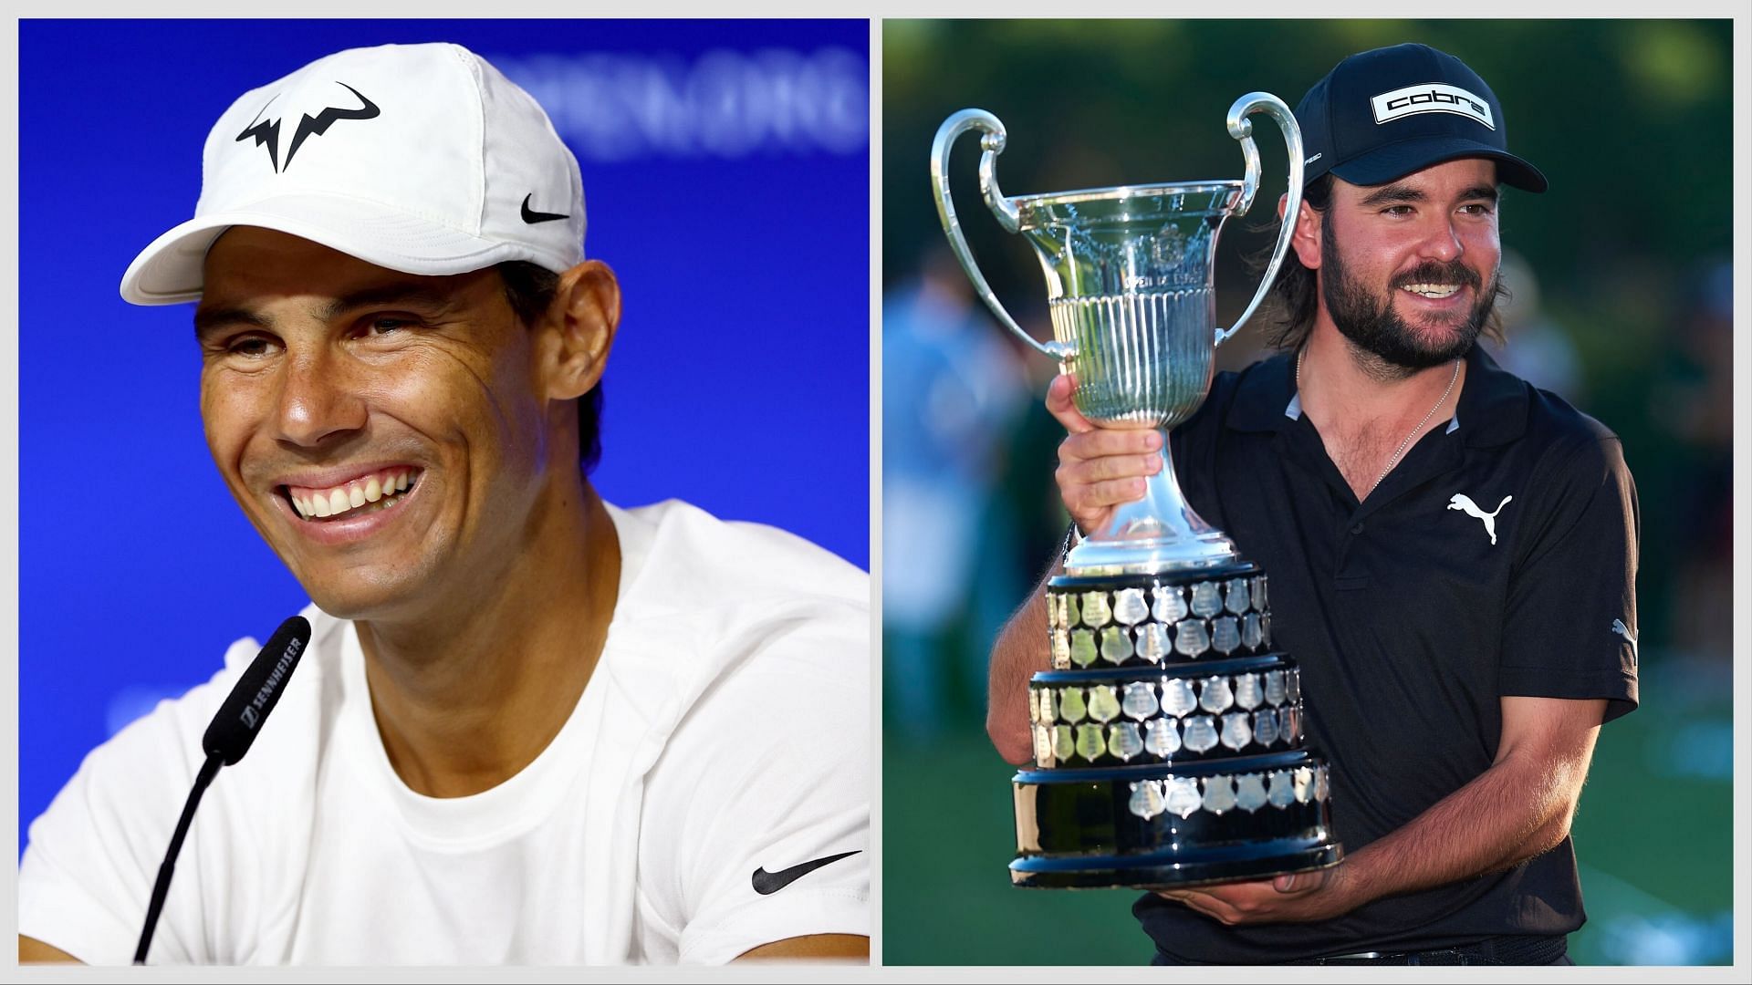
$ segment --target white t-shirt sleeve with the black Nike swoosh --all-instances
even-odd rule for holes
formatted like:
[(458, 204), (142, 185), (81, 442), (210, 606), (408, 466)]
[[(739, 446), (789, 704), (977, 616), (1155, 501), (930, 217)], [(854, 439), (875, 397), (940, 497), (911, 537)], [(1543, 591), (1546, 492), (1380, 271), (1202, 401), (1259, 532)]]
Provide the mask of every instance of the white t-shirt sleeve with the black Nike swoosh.
[(869, 641), (846, 608), (773, 627), (689, 712), (646, 780), (639, 918), (675, 960), (871, 932)]

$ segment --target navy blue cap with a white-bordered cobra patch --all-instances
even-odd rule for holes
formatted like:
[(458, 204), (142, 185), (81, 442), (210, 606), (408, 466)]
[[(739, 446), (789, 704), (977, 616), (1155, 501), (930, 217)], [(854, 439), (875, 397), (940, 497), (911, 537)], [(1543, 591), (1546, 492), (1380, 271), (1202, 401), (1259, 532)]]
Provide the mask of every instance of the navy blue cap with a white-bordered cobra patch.
[(1496, 161), (1496, 177), (1545, 191), (1545, 175), (1508, 152), (1503, 107), (1477, 72), (1426, 44), (1353, 54), (1296, 105), (1302, 181), (1332, 172), (1386, 184), (1458, 158)]

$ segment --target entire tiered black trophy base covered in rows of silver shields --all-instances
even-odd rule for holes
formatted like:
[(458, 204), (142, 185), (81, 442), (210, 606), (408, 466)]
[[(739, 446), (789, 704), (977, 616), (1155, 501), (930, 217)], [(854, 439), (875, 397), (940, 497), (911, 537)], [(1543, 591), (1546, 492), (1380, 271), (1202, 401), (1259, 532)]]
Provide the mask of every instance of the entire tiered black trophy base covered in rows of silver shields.
[(1328, 764), (1249, 561), (1048, 582), (1011, 882), (1169, 889), (1333, 866)]

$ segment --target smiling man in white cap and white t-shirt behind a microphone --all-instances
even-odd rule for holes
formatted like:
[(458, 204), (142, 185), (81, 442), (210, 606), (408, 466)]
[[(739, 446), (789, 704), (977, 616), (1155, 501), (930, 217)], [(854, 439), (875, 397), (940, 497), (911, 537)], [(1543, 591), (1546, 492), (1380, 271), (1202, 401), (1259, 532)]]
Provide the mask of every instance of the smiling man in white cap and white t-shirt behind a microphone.
[[(541, 107), (457, 46), (343, 51), (238, 98), (203, 175), (121, 291), (198, 301), (208, 447), (314, 633), (151, 960), (865, 955), (867, 578), (597, 498), (620, 294)], [(128, 960), (254, 650), (32, 824), (21, 959)]]

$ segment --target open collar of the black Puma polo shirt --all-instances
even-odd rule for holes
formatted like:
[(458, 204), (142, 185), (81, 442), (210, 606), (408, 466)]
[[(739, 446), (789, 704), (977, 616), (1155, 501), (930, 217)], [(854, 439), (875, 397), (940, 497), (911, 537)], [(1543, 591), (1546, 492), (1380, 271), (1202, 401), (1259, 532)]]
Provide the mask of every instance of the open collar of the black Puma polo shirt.
[[(1279, 352), (1247, 366), (1235, 384), (1228, 426), (1237, 431), (1281, 431), (1302, 417), (1295, 352)], [(1466, 386), (1459, 391), (1454, 426), (1468, 447), (1501, 445), (1526, 431), (1526, 384), (1501, 370), (1482, 345), (1466, 354)]]

